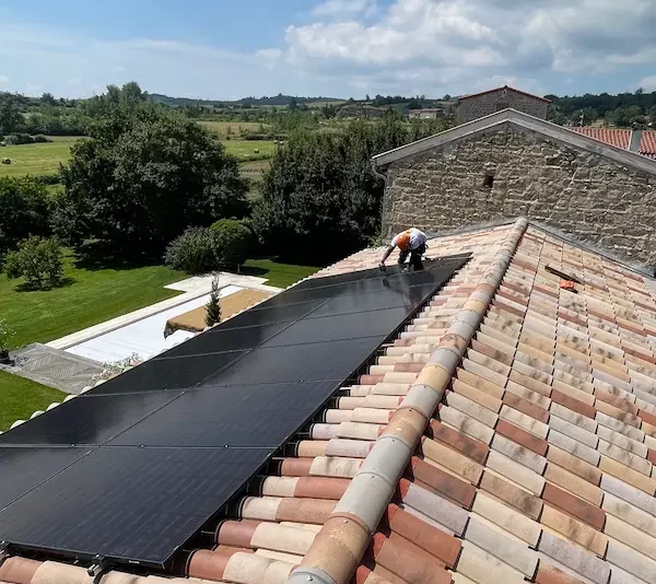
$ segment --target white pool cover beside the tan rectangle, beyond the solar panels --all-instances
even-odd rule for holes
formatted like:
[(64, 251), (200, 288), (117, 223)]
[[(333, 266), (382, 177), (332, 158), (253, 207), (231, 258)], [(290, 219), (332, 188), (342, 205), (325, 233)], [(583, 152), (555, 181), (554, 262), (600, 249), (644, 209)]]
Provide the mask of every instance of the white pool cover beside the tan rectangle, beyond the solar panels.
[[(221, 297), (234, 294), (239, 290), (242, 288), (227, 285), (221, 290)], [(151, 359), (162, 351), (194, 337), (194, 332), (177, 330), (165, 339), (164, 327), (169, 318), (207, 304), (209, 297), (210, 295), (206, 294), (173, 308), (167, 308), (161, 313), (153, 314), (130, 325), (70, 347), (67, 351), (92, 359), (93, 361), (98, 361), (99, 363), (120, 361), (133, 353), (137, 353), (143, 360)]]

